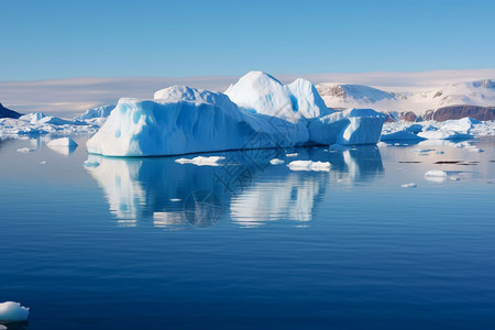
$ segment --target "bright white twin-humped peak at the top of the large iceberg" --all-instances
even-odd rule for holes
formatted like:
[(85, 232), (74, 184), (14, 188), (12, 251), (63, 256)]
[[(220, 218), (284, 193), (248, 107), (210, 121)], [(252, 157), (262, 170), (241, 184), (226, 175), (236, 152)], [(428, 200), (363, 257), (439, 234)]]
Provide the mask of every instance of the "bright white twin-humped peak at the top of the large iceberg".
[(250, 72), (231, 85), (226, 95), (239, 107), (252, 112), (274, 116), (296, 123), (331, 113), (316, 90), (305, 79), (283, 85), (268, 74)]

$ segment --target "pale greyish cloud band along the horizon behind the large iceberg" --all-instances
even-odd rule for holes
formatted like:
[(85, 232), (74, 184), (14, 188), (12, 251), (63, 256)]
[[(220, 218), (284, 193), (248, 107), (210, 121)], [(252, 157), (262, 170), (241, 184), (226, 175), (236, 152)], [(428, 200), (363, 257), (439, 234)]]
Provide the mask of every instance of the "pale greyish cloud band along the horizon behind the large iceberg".
[[(418, 73), (360, 73), (278, 75), (287, 84), (300, 77), (314, 84), (366, 85), (389, 91), (418, 90), (452, 82), (495, 78), (495, 69), (436, 70)], [(151, 99), (154, 91), (174, 85), (223, 91), (237, 76), (65, 78), (33, 81), (0, 81), (0, 102), (19, 112), (42, 111), (74, 117), (88, 108), (117, 103), (119, 98)]]

